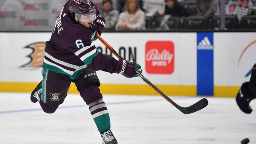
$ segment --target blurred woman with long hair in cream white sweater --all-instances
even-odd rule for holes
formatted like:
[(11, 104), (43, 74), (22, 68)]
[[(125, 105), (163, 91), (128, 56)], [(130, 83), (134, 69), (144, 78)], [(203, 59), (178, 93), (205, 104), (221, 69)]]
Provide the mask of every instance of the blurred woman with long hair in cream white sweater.
[(138, 0), (127, 0), (116, 30), (145, 30), (145, 23), (145, 13), (139, 8)]

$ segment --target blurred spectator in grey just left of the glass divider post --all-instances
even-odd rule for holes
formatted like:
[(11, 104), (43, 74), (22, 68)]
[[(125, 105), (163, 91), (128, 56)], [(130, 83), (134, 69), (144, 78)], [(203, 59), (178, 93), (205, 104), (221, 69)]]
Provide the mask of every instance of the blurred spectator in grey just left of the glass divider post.
[(197, 10), (199, 15), (206, 17), (220, 15), (218, 0), (197, 0)]

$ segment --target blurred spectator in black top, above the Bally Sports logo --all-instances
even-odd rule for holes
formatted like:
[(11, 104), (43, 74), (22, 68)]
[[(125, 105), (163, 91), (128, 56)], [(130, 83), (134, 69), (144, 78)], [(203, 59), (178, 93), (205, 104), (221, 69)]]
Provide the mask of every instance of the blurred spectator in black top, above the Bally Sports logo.
[(184, 18), (186, 9), (177, 0), (165, 0), (165, 15), (172, 15), (176, 17)]

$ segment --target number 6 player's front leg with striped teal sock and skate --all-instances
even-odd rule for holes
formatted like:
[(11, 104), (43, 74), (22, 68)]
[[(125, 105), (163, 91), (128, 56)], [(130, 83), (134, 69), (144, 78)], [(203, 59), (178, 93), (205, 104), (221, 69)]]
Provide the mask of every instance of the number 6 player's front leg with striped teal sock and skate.
[(75, 84), (84, 102), (89, 106), (89, 111), (102, 137), (102, 143), (117, 144), (116, 138), (110, 131), (109, 112), (98, 88), (100, 83), (96, 72), (86, 68), (83, 75), (75, 80)]

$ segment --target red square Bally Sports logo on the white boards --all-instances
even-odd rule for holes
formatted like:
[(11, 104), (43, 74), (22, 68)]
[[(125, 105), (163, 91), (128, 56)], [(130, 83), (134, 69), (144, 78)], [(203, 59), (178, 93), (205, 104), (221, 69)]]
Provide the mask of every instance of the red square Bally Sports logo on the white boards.
[(149, 74), (172, 74), (174, 71), (174, 44), (171, 41), (146, 43), (146, 71)]

